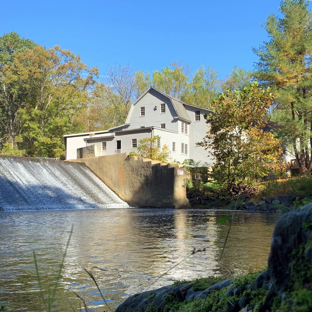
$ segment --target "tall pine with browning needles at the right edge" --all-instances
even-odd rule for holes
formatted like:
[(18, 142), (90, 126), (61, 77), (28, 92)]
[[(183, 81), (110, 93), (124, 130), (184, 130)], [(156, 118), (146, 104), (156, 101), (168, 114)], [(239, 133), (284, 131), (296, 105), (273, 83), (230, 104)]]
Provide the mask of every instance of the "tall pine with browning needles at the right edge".
[(259, 56), (254, 75), (271, 86), (272, 116), (282, 123), (279, 135), (288, 139), (301, 175), (312, 169), (312, 15), (308, 6), (303, 0), (282, 1), (284, 16), (267, 18), (264, 28), (270, 40), (254, 49)]

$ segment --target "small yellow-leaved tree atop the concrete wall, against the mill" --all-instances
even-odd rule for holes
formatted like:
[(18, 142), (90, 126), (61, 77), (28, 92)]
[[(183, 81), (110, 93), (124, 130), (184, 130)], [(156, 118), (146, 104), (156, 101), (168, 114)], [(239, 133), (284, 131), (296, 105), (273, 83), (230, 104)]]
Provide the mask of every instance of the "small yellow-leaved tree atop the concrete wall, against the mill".
[(152, 160), (160, 160), (162, 163), (168, 163), (170, 151), (167, 145), (161, 148), (157, 141), (160, 140), (159, 135), (139, 140), (137, 152), (130, 152), (130, 156), (138, 156), (140, 158), (150, 158)]

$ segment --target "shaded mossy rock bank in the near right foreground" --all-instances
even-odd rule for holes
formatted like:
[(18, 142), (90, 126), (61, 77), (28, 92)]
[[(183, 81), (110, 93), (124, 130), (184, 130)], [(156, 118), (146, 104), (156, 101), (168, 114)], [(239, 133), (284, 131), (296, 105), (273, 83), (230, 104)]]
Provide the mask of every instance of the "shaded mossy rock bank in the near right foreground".
[[(280, 217), (268, 268), (235, 279), (199, 279), (129, 297), (116, 312), (309, 312), (312, 203)], [(212, 285), (213, 284), (213, 285)]]

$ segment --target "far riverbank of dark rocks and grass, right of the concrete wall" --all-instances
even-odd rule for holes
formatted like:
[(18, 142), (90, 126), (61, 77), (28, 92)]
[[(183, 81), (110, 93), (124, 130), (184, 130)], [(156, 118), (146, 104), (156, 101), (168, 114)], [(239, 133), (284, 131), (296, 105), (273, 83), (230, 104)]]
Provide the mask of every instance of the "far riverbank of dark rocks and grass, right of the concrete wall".
[(196, 192), (188, 189), (187, 197), (192, 208), (197, 209), (286, 213), (312, 202), (311, 190), (312, 177), (309, 176), (242, 184), (230, 197), (221, 186), (206, 183)]

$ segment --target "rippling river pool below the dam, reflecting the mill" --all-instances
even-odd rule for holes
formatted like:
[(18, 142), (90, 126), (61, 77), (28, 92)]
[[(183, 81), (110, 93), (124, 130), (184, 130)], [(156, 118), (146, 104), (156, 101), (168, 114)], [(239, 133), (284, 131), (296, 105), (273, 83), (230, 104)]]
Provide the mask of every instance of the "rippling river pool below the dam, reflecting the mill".
[[(56, 281), (71, 225), (74, 232), (58, 284), (54, 311), (82, 306), (115, 310), (129, 295), (170, 285), (175, 280), (213, 275), (231, 212), (164, 209), (92, 209), (0, 212), (0, 301), (13, 311), (42, 311), (32, 252), (44, 298)], [(236, 212), (217, 274), (236, 276), (264, 268), (276, 214)], [(190, 256), (193, 248), (206, 252)], [(99, 291), (83, 268), (93, 269)], [(78, 310), (77, 310), (78, 308)]]

